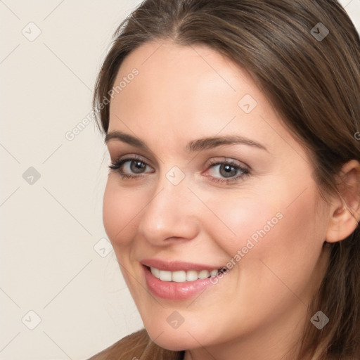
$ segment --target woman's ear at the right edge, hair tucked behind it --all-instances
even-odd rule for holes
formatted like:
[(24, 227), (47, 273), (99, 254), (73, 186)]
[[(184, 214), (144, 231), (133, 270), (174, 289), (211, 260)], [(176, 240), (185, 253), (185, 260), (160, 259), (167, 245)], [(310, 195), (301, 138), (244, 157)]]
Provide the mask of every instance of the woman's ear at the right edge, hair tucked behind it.
[(354, 232), (360, 220), (360, 164), (350, 160), (342, 166), (338, 197), (330, 205), (326, 242), (344, 240)]

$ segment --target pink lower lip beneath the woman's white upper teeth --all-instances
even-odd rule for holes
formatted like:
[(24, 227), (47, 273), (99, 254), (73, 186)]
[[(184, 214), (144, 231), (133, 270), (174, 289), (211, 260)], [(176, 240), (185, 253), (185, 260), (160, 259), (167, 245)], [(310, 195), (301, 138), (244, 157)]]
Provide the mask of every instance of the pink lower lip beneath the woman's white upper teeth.
[(147, 266), (143, 266), (143, 270), (148, 289), (153, 295), (161, 297), (162, 299), (186, 300), (202, 293), (211, 285), (214, 285), (214, 283), (210, 281), (210, 278), (184, 281), (183, 283), (176, 283), (176, 281), (162, 281), (153, 276)]

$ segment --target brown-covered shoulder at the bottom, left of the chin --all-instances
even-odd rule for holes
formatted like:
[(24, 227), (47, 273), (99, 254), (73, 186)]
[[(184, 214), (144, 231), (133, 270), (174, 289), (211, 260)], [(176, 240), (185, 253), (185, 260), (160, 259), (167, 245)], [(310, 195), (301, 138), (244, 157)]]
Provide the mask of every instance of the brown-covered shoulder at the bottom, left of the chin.
[(88, 360), (182, 360), (184, 352), (172, 352), (153, 342), (146, 329), (125, 336)]

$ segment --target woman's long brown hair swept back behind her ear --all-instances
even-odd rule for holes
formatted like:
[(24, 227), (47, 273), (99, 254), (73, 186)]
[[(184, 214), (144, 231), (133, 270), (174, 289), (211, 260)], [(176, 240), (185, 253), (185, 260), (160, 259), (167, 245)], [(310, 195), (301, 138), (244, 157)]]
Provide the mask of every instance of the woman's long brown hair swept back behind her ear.
[[(360, 40), (338, 1), (143, 1), (117, 28), (98, 74), (93, 105), (104, 133), (110, 108), (105, 98), (122, 61), (155, 39), (205, 44), (248, 70), (307, 150), (324, 200), (338, 193), (342, 165), (360, 161), (354, 136), (360, 131)], [(298, 359), (360, 359), (359, 226), (345, 240), (324, 246), (328, 269), (309, 304)], [(322, 330), (310, 322), (319, 309), (330, 319)]]

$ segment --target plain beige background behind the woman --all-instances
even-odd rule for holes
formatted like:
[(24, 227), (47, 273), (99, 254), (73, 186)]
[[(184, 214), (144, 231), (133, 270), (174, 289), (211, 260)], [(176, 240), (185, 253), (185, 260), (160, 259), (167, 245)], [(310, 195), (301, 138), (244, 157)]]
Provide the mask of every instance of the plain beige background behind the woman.
[[(360, 30), (360, 0), (340, 2)], [(1, 360), (87, 359), (142, 326), (103, 229), (103, 139), (65, 137), (139, 3), (0, 1)]]

